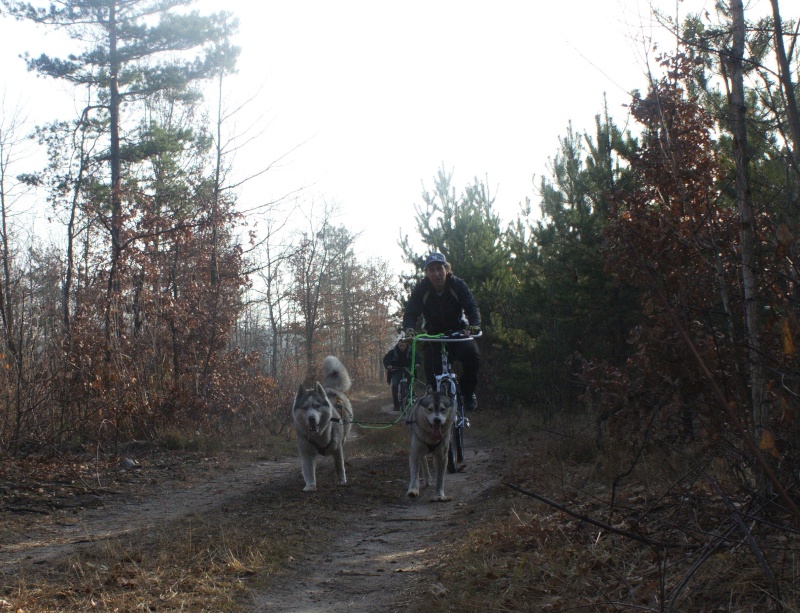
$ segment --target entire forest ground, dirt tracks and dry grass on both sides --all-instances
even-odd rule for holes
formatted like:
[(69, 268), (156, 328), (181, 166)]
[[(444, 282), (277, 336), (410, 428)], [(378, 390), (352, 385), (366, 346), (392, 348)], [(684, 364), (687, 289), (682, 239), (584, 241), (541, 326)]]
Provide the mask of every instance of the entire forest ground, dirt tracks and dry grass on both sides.
[(716, 447), (604, 454), (579, 411), (489, 401), (433, 503), (406, 496), (388, 388), (352, 400), (348, 484), (323, 457), (314, 493), (288, 415), (255, 443), (0, 461), (0, 613), (800, 611), (798, 533), (694, 477), (733, 491)]

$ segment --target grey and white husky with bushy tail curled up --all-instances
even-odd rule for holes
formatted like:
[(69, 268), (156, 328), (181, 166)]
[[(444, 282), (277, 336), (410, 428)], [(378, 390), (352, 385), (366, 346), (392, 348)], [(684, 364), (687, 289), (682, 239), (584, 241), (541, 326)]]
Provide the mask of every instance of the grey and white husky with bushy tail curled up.
[(325, 378), (313, 389), (297, 390), (292, 405), (292, 419), (297, 433), (297, 447), (303, 465), (304, 492), (317, 490), (317, 456), (333, 455), (336, 482), (347, 483), (344, 472), (344, 441), (353, 423), (353, 407), (345, 392), (350, 389), (350, 375), (337, 358), (329, 355), (322, 363)]

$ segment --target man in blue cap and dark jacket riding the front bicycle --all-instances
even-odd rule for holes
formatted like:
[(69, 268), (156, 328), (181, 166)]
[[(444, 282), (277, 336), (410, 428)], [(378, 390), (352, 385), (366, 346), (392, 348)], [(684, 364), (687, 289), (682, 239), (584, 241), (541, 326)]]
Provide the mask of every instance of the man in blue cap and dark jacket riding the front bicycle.
[[(403, 328), (407, 336), (414, 336), (420, 316), (424, 318), (423, 328), (428, 334), (446, 334), (464, 330), (467, 326), (470, 332), (480, 330), (481, 314), (475, 297), (467, 284), (452, 273), (447, 259), (438, 251), (426, 258), (425, 278), (411, 291), (406, 304)], [(423, 348), (428, 383), (434, 381), (435, 375), (442, 370), (441, 360), (436, 355), (439, 349), (434, 345), (438, 343), (425, 343)], [(461, 362), (464, 406), (468, 411), (473, 410), (478, 406), (475, 396), (481, 357), (478, 344), (474, 340), (450, 343), (447, 351), (451, 359)]]

